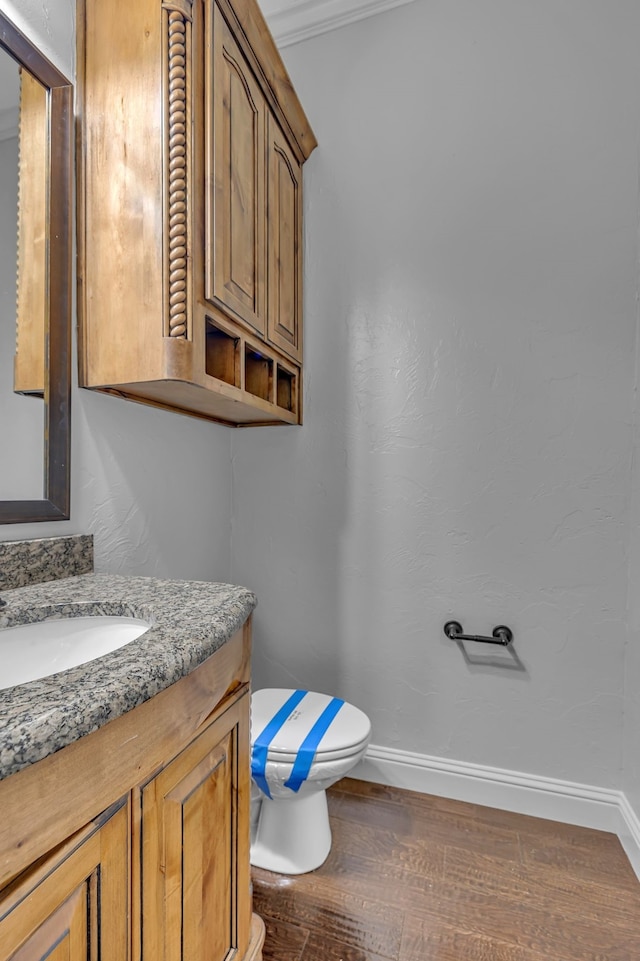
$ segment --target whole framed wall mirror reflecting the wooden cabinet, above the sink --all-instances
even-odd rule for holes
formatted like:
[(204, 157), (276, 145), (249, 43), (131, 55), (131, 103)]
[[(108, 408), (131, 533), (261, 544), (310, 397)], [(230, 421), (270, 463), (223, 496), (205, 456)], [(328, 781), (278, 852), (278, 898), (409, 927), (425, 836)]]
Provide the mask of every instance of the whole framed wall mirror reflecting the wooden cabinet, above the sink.
[(0, 12), (0, 524), (69, 517), (72, 87)]

